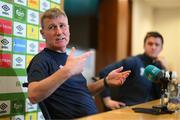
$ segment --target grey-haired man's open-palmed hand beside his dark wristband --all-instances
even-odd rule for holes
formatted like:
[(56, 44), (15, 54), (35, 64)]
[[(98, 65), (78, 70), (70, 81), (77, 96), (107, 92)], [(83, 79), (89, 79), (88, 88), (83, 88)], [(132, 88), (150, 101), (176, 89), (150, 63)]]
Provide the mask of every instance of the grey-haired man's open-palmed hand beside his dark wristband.
[(107, 80), (106, 82), (109, 86), (113, 87), (113, 86), (122, 85), (124, 83), (124, 81), (129, 76), (131, 71), (128, 70), (128, 71), (121, 72), (122, 70), (123, 70), (123, 67), (120, 67), (118, 69), (111, 71), (108, 74), (108, 76), (106, 77), (106, 80)]

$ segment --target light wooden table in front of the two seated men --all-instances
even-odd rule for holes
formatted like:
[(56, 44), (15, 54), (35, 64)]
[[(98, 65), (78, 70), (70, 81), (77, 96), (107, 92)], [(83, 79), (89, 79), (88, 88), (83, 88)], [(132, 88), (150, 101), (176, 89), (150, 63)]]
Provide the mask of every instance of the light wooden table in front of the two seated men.
[(152, 108), (159, 105), (160, 101), (150, 101), (147, 103), (116, 109), (96, 115), (79, 118), (78, 120), (180, 120), (180, 111), (172, 114), (151, 115), (146, 113), (136, 113), (132, 110), (134, 107)]

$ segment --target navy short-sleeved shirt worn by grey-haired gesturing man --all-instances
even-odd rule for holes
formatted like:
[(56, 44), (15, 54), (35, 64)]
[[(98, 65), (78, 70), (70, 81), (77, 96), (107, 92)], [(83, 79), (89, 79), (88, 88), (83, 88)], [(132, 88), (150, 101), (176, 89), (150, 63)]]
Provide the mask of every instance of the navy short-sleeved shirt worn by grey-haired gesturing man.
[[(36, 55), (27, 68), (28, 81), (40, 81), (65, 65), (66, 53), (45, 48)], [(82, 74), (66, 80), (48, 98), (43, 100), (52, 119), (73, 119), (97, 113), (86, 79)]]

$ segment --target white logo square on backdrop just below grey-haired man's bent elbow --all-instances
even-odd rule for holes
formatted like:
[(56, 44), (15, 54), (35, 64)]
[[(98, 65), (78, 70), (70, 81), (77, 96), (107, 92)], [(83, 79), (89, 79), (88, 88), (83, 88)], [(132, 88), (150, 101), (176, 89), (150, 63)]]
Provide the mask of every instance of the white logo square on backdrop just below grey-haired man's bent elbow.
[(32, 104), (29, 99), (26, 99), (26, 112), (37, 111), (38, 105)]

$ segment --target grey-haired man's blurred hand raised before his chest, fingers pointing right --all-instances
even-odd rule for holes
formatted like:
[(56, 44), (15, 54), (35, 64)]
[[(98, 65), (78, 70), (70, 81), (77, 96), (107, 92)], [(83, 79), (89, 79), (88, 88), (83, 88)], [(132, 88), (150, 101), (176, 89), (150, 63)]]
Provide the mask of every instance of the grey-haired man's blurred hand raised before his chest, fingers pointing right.
[(71, 52), (64, 66), (69, 70), (71, 76), (80, 74), (83, 71), (86, 59), (91, 55), (91, 52), (85, 52), (84, 54), (75, 57), (75, 50), (74, 47), (71, 48)]

